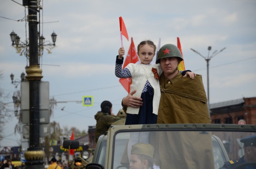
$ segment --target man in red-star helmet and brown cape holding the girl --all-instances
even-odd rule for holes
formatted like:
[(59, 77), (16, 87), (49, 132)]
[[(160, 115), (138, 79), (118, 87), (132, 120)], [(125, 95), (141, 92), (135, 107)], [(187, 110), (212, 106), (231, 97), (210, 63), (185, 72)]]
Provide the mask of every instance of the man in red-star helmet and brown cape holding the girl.
[[(207, 98), (201, 75), (193, 80), (183, 77), (178, 65), (183, 60), (179, 48), (166, 44), (159, 49), (156, 63), (160, 63), (161, 98), (157, 123), (210, 123)], [(122, 103), (124, 106), (139, 107), (141, 99), (133, 97), (132, 91)], [(125, 109), (125, 107), (124, 107)]]

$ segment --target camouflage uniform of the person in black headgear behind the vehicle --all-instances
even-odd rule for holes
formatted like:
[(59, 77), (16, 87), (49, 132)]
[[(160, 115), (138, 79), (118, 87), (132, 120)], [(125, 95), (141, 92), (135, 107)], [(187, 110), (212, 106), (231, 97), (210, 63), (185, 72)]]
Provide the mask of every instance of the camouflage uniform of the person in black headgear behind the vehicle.
[(95, 132), (95, 142), (96, 143), (98, 141), (99, 136), (106, 133), (106, 131), (108, 131), (108, 128), (111, 126), (112, 123), (114, 123), (118, 120), (125, 119), (125, 118), (118, 118), (114, 115), (111, 115), (108, 113), (103, 113), (100, 111), (94, 115), (94, 118), (97, 121), (96, 132)]

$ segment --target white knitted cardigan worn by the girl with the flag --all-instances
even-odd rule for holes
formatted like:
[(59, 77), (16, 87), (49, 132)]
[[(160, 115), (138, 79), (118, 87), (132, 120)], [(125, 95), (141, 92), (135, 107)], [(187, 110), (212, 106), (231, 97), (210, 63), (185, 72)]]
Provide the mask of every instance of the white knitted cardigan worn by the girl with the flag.
[[(160, 76), (163, 72), (160, 64), (134, 64), (129, 63), (126, 66), (127, 69), (130, 70), (130, 73), (132, 75), (132, 84), (130, 86), (131, 91), (134, 91), (136, 89), (136, 93), (133, 96), (141, 97), (141, 93), (143, 91), (143, 88), (148, 80), (150, 85), (154, 89), (154, 97), (153, 97), (153, 112), (157, 115), (158, 113), (158, 107), (159, 107), (159, 101), (160, 101), (160, 86), (159, 86), (159, 80), (155, 78), (154, 73), (152, 72), (152, 68), (157, 69), (157, 73)], [(133, 107), (127, 107), (126, 113), (129, 114), (139, 114), (139, 108), (133, 108)]]

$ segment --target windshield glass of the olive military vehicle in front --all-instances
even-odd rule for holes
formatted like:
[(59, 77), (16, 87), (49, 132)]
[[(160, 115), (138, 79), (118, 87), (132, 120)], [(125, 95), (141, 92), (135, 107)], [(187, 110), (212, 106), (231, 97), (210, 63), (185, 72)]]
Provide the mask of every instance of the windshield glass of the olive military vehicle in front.
[[(132, 168), (130, 161), (134, 158), (144, 159), (151, 156), (150, 149), (144, 144), (138, 147), (137, 142), (151, 144), (153, 149), (152, 165), (160, 169), (173, 168), (208, 168), (218, 169), (224, 162), (236, 160), (244, 155), (244, 144), (240, 139), (255, 135), (254, 132), (239, 131), (132, 131), (117, 132), (113, 140), (112, 169)], [(140, 136), (146, 136), (142, 139)], [(148, 139), (147, 139), (148, 138)], [(132, 140), (132, 141), (131, 141)], [(130, 143), (129, 143), (130, 142)], [(138, 151), (135, 151), (135, 148)], [(133, 156), (131, 156), (131, 150)], [(129, 154), (129, 155), (128, 155)], [(129, 159), (129, 158), (132, 158)], [(151, 157), (150, 157), (151, 159)], [(134, 163), (135, 164), (135, 163)], [(151, 167), (152, 168), (152, 167)]]

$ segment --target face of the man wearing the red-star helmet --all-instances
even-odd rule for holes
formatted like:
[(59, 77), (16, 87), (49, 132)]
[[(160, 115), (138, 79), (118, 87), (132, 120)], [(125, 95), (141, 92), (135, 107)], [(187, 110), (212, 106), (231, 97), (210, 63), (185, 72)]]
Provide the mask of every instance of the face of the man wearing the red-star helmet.
[(160, 60), (161, 67), (164, 71), (164, 74), (172, 73), (178, 66), (177, 57), (165, 57)]

